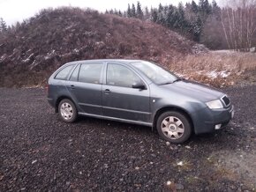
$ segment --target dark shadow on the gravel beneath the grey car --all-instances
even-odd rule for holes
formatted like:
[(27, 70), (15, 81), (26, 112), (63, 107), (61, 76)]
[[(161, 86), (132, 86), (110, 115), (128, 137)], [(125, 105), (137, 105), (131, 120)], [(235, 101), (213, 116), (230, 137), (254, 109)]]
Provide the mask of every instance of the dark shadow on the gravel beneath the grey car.
[[(79, 119), (75, 124), (79, 124), (79, 126), (84, 127), (85, 125), (88, 125), (92, 128), (99, 128), (102, 129), (102, 131), (107, 131), (108, 134), (115, 133), (117, 131), (120, 131), (120, 134), (129, 135), (131, 134), (131, 137), (134, 135), (137, 135), (138, 137), (148, 137), (150, 139), (154, 139), (155, 142), (159, 142), (159, 140), (162, 140), (162, 142), (165, 142), (157, 133), (157, 129), (152, 129), (151, 127), (142, 126), (142, 125), (136, 125), (132, 123), (126, 123), (126, 122), (116, 122), (116, 121), (109, 121), (104, 119), (97, 119), (93, 117), (86, 117), (86, 116), (79, 116)], [(195, 135), (192, 134), (192, 136), (188, 139), (188, 141), (184, 142), (184, 145), (186, 144), (214, 144), (216, 146), (222, 145), (229, 142), (232, 145), (237, 144), (237, 134), (231, 130), (232, 126), (228, 125), (226, 128), (215, 131), (213, 133), (207, 133), (207, 134), (200, 134)], [(230, 144), (225, 146), (227, 148), (230, 148)], [(232, 148), (232, 147), (231, 147)]]

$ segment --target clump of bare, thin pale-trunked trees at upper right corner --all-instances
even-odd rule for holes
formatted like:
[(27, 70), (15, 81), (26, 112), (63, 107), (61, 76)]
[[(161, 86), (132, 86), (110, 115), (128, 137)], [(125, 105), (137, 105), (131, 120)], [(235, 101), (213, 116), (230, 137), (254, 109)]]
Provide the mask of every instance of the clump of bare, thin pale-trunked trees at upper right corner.
[[(230, 5), (230, 1), (226, 1)], [(256, 0), (233, 0), (222, 9), (222, 28), (230, 49), (249, 51), (256, 33)]]

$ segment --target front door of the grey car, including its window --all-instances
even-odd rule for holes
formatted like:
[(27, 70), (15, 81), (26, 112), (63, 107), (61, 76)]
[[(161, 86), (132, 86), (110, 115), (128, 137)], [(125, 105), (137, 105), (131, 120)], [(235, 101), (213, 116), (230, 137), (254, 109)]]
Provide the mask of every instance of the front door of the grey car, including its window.
[[(147, 85), (129, 67), (119, 63), (108, 63), (106, 85), (102, 85), (102, 113), (105, 116), (149, 122), (149, 90)], [(146, 89), (132, 88), (142, 82)]]

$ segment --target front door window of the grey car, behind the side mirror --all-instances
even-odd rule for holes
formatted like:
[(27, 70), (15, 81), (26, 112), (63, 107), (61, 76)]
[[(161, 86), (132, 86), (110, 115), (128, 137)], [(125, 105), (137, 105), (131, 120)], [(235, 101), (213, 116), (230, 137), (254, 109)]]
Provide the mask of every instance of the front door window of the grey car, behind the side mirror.
[(132, 87), (140, 78), (128, 68), (119, 64), (108, 64), (107, 85)]

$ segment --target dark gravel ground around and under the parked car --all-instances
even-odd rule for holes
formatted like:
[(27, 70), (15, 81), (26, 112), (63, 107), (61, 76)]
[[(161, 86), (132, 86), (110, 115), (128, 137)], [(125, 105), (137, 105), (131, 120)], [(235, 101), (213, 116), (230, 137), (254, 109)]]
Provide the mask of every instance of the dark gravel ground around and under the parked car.
[(66, 124), (44, 90), (0, 88), (0, 190), (255, 191), (256, 85), (224, 92), (230, 125), (176, 145), (137, 125)]

